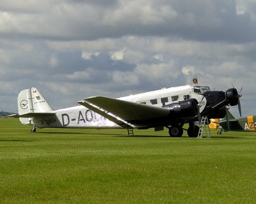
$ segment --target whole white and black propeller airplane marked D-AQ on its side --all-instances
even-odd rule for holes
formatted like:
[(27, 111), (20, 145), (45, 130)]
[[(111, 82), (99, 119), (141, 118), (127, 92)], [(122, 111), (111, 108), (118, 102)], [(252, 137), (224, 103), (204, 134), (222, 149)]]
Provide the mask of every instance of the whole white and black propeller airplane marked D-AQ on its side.
[(19, 117), (22, 124), (38, 128), (126, 128), (155, 131), (169, 129), (171, 137), (183, 135), (183, 125), (189, 124), (189, 137), (197, 137), (201, 116), (222, 118), (228, 105), (239, 105), (236, 88), (228, 91), (210, 91), (198, 84), (162, 88), (126, 97), (112, 99), (103, 96), (88, 97), (80, 105), (53, 111), (37, 88), (23, 90), (18, 95)]

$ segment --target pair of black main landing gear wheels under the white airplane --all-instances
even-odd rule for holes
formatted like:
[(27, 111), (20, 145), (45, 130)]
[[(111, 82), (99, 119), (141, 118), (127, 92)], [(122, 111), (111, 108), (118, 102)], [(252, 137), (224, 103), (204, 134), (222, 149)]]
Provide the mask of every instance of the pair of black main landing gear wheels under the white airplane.
[[(183, 130), (186, 130), (183, 129), (180, 125), (172, 125), (167, 128), (169, 129), (170, 137), (181, 137), (183, 135)], [(197, 137), (199, 129), (199, 126), (196, 126), (195, 124), (189, 124), (189, 128), (187, 129), (188, 137)]]

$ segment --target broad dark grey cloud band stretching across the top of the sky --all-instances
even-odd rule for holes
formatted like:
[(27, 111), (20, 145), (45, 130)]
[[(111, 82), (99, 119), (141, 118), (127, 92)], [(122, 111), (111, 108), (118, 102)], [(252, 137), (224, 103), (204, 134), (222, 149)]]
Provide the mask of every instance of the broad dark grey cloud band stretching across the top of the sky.
[[(46, 11), (21, 16), (10, 14), (5, 32), (0, 35), (49, 40), (177, 36), (238, 43), (253, 41), (256, 36), (255, 22), (249, 13), (237, 14), (235, 1), (138, 1), (142, 3), (137, 7), (134, 1), (75, 2), (57, 1), (52, 7), (46, 3)], [(95, 7), (95, 4), (102, 7)], [(17, 20), (21, 25), (15, 23)]]

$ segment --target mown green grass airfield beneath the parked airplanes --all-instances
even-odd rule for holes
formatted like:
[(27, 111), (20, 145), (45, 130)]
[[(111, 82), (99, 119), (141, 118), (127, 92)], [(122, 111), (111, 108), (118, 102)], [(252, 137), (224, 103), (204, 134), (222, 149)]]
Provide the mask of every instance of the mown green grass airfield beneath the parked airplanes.
[(256, 203), (255, 133), (0, 128), (0, 203)]

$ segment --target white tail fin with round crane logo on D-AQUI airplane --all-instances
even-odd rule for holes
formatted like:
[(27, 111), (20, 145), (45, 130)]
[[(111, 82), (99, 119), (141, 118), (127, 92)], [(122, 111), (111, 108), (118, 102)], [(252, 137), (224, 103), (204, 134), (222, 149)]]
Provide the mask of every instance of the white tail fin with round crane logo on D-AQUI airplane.
[(32, 124), (31, 116), (33, 113), (48, 113), (52, 112), (53, 109), (37, 88), (30, 88), (20, 91), (18, 95), (18, 111), (20, 122), (27, 125)]

